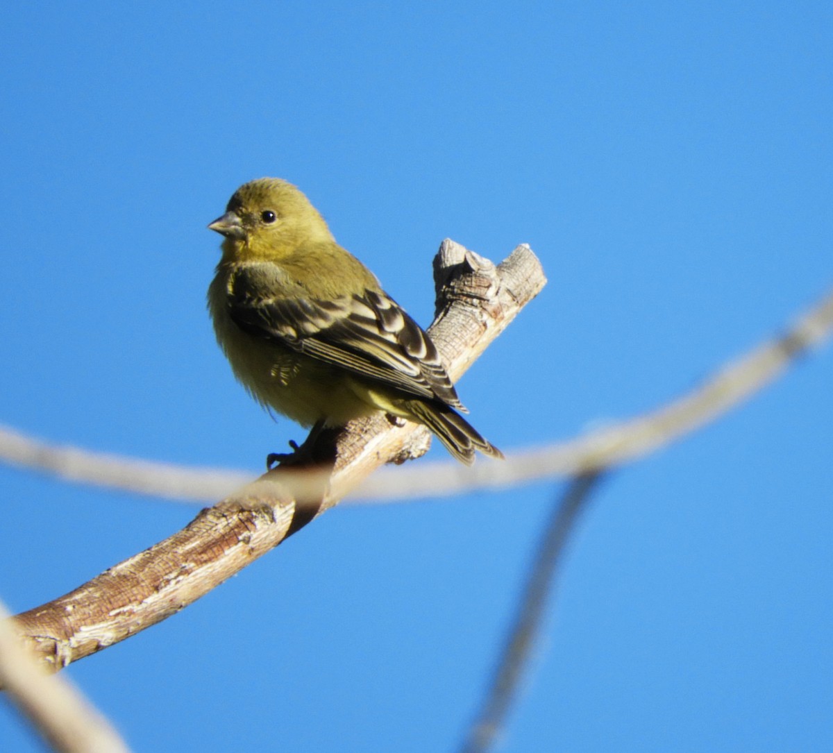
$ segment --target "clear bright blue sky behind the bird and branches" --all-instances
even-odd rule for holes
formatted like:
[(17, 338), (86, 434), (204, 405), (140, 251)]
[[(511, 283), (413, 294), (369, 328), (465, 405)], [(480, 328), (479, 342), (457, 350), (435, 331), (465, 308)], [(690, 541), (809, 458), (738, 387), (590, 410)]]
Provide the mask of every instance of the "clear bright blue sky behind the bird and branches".
[[(48, 440), (254, 476), (302, 438), (205, 312), (205, 226), (263, 175), (425, 325), (444, 237), (531, 244), (549, 285), (460, 385), (510, 452), (671, 399), (833, 285), (829, 3), (35, 2), (4, 32), (0, 421)], [(831, 372), (606, 482), (502, 751), (833, 746)], [(0, 482), (14, 611), (196, 511)], [(137, 751), (454, 750), (560, 490), (329, 512), (67, 675)], [(6, 707), (0, 745), (40, 750)]]

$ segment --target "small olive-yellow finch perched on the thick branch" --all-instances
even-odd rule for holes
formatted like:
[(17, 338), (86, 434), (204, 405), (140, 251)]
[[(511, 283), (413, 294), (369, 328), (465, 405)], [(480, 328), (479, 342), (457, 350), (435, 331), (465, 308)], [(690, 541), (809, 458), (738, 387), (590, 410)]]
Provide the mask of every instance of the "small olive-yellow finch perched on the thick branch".
[(248, 182), (208, 227), (225, 237), (208, 288), (217, 342), (262, 406), (313, 431), (387, 411), (425, 424), (465, 463), (476, 450), (502, 457), (457, 412), (431, 338), (297, 187)]

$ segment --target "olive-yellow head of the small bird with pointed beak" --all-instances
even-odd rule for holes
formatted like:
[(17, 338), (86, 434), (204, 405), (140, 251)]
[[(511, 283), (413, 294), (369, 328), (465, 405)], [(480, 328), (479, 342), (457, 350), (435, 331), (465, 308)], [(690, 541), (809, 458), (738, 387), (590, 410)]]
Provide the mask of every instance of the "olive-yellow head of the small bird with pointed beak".
[(327, 222), (304, 194), (277, 177), (244, 183), (209, 229), (226, 237), (224, 258), (277, 261), (304, 243), (332, 241)]

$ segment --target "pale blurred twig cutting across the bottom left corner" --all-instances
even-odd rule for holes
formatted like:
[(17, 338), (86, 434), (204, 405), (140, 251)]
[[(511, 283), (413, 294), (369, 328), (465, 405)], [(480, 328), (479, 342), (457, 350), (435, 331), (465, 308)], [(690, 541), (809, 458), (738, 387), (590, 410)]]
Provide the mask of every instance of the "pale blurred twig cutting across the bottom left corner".
[(69, 682), (50, 677), (22, 646), (0, 604), (0, 686), (59, 753), (127, 753), (110, 723)]

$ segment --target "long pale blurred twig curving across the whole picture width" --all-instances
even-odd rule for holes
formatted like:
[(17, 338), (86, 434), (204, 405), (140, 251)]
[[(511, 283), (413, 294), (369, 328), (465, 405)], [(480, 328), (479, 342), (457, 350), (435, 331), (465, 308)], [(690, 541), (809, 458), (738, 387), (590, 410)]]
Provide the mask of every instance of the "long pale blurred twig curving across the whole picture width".
[[(448, 462), (423, 462), (408, 468), (382, 469), (358, 486), (349, 501), (453, 496), (476, 489), (576, 476), (636, 460), (747, 400), (798, 356), (830, 337), (831, 329), (833, 292), (781, 337), (738, 357), (701, 386), (654, 411), (569, 441), (508, 453), (503, 462), (481, 462), (469, 468)], [(67, 481), (188, 501), (226, 496), (249, 477), (245, 471), (186, 468), (49, 445), (2, 426), (0, 461)]]

